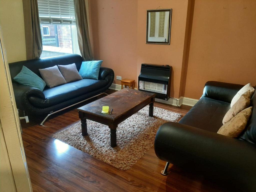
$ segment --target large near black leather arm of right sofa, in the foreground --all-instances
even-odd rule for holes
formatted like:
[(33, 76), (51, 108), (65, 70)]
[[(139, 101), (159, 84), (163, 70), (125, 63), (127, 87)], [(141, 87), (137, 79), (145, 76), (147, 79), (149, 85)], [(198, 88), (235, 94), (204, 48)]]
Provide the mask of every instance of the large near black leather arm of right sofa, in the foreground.
[(196, 127), (168, 122), (159, 127), (155, 153), (169, 163), (227, 173), (256, 188), (256, 146)]

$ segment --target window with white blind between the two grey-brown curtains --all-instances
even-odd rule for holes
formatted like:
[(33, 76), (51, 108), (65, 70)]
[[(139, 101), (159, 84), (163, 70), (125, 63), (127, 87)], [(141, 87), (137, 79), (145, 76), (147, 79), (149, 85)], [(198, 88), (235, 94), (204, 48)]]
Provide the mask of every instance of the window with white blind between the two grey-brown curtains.
[(80, 54), (73, 0), (38, 0), (43, 50), (41, 58)]

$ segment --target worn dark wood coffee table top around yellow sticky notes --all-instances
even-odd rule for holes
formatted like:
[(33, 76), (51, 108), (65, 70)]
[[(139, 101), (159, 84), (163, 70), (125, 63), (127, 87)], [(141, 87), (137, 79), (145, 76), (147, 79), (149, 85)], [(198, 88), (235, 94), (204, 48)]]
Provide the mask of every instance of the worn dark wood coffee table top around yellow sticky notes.
[[(137, 105), (151, 100), (155, 95), (155, 93), (138, 91), (135, 89), (122, 89), (84, 105), (78, 108), (78, 111), (114, 121), (127, 111), (135, 108)], [(101, 113), (102, 106), (109, 106), (109, 113)], [(113, 111), (110, 114), (112, 108)]]

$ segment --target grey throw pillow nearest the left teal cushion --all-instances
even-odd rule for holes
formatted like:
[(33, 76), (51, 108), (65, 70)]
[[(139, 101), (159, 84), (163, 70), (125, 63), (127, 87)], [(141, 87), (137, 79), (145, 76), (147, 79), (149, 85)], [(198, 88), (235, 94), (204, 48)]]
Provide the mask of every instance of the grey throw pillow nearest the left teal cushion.
[(39, 72), (48, 87), (56, 87), (58, 85), (67, 83), (67, 81), (60, 73), (60, 70), (57, 67), (57, 65), (45, 69), (39, 69)]

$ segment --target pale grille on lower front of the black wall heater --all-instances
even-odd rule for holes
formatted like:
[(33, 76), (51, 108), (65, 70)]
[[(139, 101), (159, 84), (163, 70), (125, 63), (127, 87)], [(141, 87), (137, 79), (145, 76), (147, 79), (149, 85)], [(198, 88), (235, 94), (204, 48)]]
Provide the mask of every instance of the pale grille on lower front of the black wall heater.
[(152, 91), (156, 93), (167, 93), (167, 85), (161, 83), (153, 83), (147, 81), (139, 81), (139, 86), (141, 90)]

